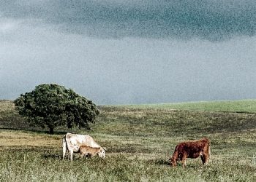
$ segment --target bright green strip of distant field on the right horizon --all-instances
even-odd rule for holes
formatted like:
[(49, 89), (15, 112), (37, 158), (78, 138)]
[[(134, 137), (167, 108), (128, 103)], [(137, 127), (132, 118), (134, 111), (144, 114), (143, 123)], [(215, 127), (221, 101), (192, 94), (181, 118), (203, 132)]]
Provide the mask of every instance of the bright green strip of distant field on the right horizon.
[(167, 108), (190, 111), (227, 111), (256, 113), (256, 100), (202, 101), (118, 106), (124, 108)]

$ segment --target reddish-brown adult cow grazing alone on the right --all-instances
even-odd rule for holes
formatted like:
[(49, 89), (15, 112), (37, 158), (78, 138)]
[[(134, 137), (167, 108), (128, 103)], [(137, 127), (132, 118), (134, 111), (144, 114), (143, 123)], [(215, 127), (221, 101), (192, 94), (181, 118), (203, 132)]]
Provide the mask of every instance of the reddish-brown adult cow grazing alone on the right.
[(210, 157), (210, 140), (203, 138), (199, 141), (187, 141), (179, 143), (173, 153), (173, 157), (170, 158), (170, 166), (175, 167), (177, 161), (181, 160), (182, 166), (186, 166), (186, 159), (201, 157), (203, 165), (207, 165)]

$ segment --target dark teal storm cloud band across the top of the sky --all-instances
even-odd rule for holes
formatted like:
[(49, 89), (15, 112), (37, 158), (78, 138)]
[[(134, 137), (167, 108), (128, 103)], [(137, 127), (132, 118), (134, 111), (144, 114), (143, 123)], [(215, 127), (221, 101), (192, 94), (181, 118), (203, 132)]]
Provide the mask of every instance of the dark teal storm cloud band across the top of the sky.
[(1, 1), (0, 15), (53, 23), (59, 31), (102, 38), (253, 36), (256, 1)]

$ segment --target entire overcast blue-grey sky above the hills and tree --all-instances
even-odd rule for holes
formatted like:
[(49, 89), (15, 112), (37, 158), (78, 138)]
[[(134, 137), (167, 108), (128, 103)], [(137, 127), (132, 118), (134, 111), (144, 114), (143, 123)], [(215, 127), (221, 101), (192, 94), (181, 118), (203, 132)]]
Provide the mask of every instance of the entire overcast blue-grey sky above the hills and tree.
[(97, 104), (256, 98), (256, 1), (0, 1), (0, 99), (52, 82)]

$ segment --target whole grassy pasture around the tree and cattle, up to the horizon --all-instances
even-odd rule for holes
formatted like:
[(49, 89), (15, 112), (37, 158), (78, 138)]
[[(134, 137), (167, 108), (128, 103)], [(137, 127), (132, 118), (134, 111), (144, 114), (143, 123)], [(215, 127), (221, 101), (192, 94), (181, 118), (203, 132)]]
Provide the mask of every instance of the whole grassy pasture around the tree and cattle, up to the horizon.
[[(222, 104), (221, 104), (222, 103)], [(204, 107), (204, 106), (205, 107)], [(100, 106), (91, 130), (31, 127), (0, 102), (0, 181), (256, 181), (256, 102)], [(61, 160), (65, 132), (94, 137), (105, 159)], [(177, 143), (211, 139), (211, 159), (171, 168)]]

